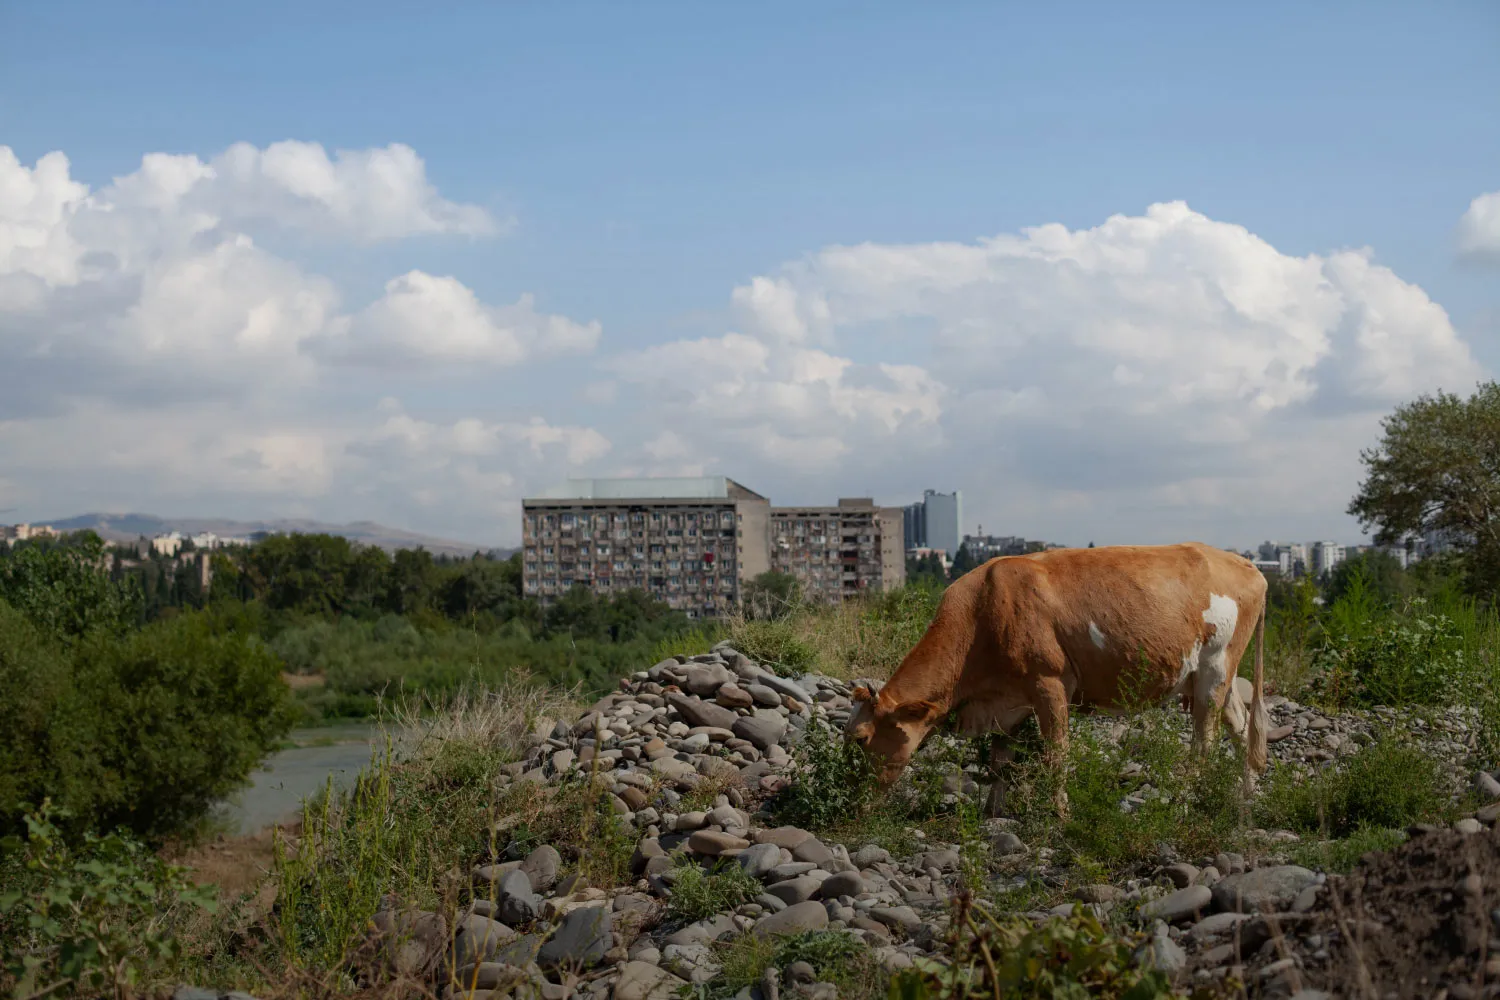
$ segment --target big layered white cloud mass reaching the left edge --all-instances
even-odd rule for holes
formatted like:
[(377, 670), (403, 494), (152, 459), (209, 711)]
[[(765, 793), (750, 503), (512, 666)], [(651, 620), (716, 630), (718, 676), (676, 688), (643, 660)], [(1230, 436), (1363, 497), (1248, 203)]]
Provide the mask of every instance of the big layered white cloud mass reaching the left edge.
[(98, 189), (62, 153), (27, 166), (0, 147), (0, 505), (346, 519), (354, 504), (500, 541), (524, 489), (609, 451), (590, 427), (494, 397), (434, 420), (370, 402), (417, 367), (472, 379), (590, 352), (597, 322), (531, 295), (492, 306), (422, 270), (350, 307), (255, 238), (273, 229), (364, 244), (501, 225), (440, 196), (402, 145), (147, 154)]

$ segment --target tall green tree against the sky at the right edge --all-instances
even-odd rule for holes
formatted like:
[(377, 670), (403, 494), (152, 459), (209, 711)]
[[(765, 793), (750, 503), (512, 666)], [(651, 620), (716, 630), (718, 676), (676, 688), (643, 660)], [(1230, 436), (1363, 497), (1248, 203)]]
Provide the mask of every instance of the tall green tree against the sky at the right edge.
[(1348, 513), (1376, 540), (1448, 532), (1467, 556), (1470, 586), (1500, 583), (1500, 384), (1468, 399), (1420, 396), (1382, 421), (1380, 444), (1360, 453), (1366, 475)]

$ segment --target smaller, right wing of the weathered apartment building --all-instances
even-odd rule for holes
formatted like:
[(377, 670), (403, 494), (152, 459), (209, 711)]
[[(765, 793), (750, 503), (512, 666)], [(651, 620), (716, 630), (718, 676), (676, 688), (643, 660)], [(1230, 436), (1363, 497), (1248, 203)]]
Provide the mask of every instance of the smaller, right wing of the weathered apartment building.
[(771, 568), (790, 573), (802, 592), (840, 604), (870, 589), (906, 582), (903, 510), (868, 496), (837, 507), (772, 507)]

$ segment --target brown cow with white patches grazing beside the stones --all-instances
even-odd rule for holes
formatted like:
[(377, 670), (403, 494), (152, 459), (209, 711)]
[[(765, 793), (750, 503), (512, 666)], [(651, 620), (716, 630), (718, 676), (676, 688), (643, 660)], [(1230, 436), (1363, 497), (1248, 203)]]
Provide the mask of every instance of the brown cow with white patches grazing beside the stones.
[[(1220, 718), (1245, 744), (1245, 792), (1266, 769), (1266, 577), (1248, 559), (1202, 543), (1053, 549), (1000, 556), (958, 577), (927, 633), (891, 679), (852, 693), (848, 738), (891, 784), (945, 718), (963, 735), (994, 733), (990, 763), (1035, 714), (1047, 757), (1068, 748), (1068, 706), (1122, 714), (1180, 699), (1192, 747)], [(1257, 633), (1250, 714), (1234, 691)], [(996, 778), (990, 811), (1002, 805)], [(1065, 793), (1058, 807), (1066, 811)]]

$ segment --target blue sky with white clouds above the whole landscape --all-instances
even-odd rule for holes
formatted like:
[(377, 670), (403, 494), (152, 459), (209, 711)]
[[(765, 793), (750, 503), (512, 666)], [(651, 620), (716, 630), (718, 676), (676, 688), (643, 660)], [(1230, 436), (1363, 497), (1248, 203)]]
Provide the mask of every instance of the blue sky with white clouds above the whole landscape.
[(568, 477), (1358, 541), (1500, 369), (1500, 4), (0, 4), (0, 519)]

